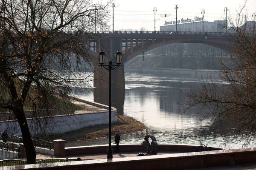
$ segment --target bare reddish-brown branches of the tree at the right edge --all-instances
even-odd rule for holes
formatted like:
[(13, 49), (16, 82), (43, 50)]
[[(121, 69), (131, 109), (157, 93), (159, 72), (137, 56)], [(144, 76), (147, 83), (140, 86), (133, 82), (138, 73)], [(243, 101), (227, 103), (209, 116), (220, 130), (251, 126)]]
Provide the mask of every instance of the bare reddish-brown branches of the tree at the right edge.
[(227, 127), (233, 139), (247, 145), (256, 135), (256, 25), (241, 12), (230, 23), (234, 57), (221, 69), (227, 83), (203, 82), (202, 90), (186, 94), (184, 111), (199, 105), (204, 119)]

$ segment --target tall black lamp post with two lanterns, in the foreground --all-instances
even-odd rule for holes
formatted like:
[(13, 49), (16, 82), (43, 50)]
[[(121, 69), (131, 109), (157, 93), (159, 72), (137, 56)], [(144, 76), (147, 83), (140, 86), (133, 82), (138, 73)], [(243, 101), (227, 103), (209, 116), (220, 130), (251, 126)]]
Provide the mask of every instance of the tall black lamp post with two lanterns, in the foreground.
[(108, 107), (108, 150), (107, 150), (107, 159), (113, 158), (113, 150), (111, 148), (111, 70), (115, 69), (116, 67), (119, 67), (122, 61), (122, 52), (119, 50), (115, 54), (116, 58), (116, 65), (112, 64), (112, 61), (110, 60), (108, 62), (108, 65), (104, 65), (106, 54), (103, 51), (100, 51), (98, 54), (99, 57), (99, 66), (104, 67), (109, 71), (109, 107)]

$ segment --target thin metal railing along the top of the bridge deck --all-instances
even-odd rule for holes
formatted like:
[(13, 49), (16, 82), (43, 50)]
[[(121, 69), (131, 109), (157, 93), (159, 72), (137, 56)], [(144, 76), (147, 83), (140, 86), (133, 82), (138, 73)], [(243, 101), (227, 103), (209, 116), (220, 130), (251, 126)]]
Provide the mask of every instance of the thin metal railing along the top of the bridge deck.
[(193, 31), (97, 31), (97, 34), (198, 34), (198, 35), (234, 35), (226, 32), (193, 32)]

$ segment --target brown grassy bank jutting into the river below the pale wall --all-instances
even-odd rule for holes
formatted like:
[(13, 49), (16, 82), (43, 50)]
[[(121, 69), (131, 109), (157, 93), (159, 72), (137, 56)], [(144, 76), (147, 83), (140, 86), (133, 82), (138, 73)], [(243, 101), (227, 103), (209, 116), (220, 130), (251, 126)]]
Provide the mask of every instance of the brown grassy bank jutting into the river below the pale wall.
[[(112, 123), (111, 125), (111, 136), (113, 137), (114, 133), (118, 132), (122, 137), (123, 135), (143, 131), (145, 128), (146, 127), (142, 122), (139, 122), (132, 117), (118, 115), (117, 122)], [(73, 130), (62, 134), (52, 134), (49, 138), (64, 139), (67, 142), (67, 147), (101, 144), (98, 142), (108, 140), (108, 124), (84, 127), (79, 130)]]

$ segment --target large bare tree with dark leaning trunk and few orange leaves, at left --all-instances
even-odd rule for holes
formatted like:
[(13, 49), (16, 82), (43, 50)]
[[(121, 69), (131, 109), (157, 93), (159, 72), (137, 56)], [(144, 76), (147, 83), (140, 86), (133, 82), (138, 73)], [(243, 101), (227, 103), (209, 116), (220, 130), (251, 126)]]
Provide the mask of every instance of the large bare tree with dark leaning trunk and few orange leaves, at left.
[(19, 123), (27, 164), (35, 163), (35, 148), (24, 105), (35, 111), (54, 108), (59, 87), (87, 81), (79, 71), (89, 59), (87, 42), (94, 35), (88, 32), (94, 32), (95, 23), (107, 27), (109, 3), (0, 1), (0, 107)]

